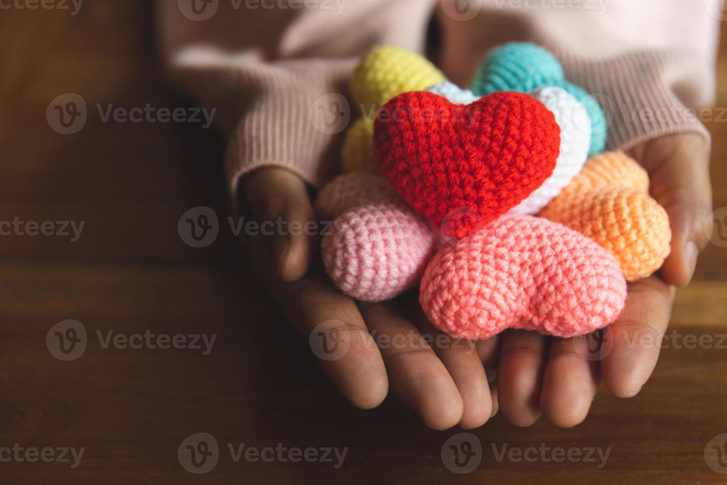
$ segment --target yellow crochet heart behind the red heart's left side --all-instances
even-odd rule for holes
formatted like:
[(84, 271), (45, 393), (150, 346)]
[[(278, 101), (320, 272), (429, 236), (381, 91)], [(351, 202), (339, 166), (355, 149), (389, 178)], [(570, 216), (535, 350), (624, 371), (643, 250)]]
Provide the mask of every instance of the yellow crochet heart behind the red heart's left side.
[(407, 91), (424, 91), (446, 81), (420, 54), (396, 46), (371, 49), (353, 70), (350, 89), (363, 118), (348, 129), (341, 154), (343, 171), (379, 173), (374, 154), (374, 119), (389, 99)]

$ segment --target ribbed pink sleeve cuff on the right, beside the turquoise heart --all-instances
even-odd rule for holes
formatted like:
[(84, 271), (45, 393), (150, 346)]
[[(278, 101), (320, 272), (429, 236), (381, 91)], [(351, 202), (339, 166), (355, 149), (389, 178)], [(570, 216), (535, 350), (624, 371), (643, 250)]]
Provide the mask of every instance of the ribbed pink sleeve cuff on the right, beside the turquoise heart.
[[(710, 104), (714, 86), (706, 66), (680, 54), (633, 52), (606, 60), (560, 55), (566, 78), (582, 86), (601, 103), (608, 120), (608, 149), (628, 150), (668, 134), (694, 132), (707, 141), (710, 133), (699, 119)], [(687, 107), (681, 99), (704, 104)]]

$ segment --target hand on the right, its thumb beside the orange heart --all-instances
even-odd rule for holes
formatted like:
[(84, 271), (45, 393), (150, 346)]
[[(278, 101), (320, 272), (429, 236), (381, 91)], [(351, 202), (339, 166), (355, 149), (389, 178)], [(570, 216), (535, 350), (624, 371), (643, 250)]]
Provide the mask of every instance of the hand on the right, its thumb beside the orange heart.
[(577, 425), (601, 378), (611, 394), (631, 397), (656, 366), (675, 287), (691, 280), (699, 250), (707, 243), (702, 223), (712, 211), (710, 147), (699, 135), (675, 134), (640, 144), (630, 155), (646, 168), (651, 195), (669, 215), (670, 256), (659, 274), (629, 285), (624, 311), (603, 330), (600, 355), (584, 350), (588, 337), (547, 338), (521, 331), (502, 335), (499, 407), (516, 425), (531, 425), (541, 414), (561, 427)]

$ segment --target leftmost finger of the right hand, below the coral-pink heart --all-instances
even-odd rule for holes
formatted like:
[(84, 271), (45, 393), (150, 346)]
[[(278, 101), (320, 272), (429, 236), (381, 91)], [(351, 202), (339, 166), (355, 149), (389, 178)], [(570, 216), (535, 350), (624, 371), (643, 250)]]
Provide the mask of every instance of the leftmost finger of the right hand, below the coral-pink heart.
[(497, 371), (499, 407), (510, 422), (529, 426), (540, 417), (540, 388), (545, 370), (547, 339), (524, 330), (501, 337)]

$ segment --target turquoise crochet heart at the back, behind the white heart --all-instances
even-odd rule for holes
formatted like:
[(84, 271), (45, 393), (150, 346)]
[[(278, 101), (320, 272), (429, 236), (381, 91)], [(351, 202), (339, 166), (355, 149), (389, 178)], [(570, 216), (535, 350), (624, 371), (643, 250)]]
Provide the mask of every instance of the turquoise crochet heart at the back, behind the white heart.
[(529, 92), (545, 86), (565, 89), (585, 105), (591, 121), (588, 155), (603, 152), (608, 122), (598, 101), (584, 89), (566, 81), (561, 63), (547, 49), (529, 42), (511, 42), (493, 49), (482, 62), (472, 91), (486, 96), (495, 91)]

